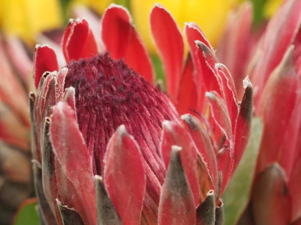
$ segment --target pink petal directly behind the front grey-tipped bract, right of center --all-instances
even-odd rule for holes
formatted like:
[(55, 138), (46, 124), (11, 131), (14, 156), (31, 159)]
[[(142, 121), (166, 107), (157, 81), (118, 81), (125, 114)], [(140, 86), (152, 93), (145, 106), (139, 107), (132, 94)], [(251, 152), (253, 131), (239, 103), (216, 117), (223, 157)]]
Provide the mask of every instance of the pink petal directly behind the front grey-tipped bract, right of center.
[(166, 168), (168, 168), (171, 150), (173, 145), (178, 145), (183, 148), (181, 151), (181, 161), (185, 169), (185, 174), (189, 181), (190, 187), (192, 189), (195, 204), (199, 205), (199, 181), (197, 174), (197, 149), (196, 146), (183, 126), (178, 125), (174, 121), (163, 122), (163, 133), (162, 141), (160, 147), (160, 153), (162, 159), (165, 163)]

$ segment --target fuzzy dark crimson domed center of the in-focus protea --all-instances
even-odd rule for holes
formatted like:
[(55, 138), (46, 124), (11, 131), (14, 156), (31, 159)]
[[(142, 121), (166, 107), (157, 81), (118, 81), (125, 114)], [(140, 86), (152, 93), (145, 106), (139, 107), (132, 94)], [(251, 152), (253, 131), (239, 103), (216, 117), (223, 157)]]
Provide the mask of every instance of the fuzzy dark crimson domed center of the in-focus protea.
[(75, 87), (77, 120), (94, 159), (94, 173), (102, 174), (108, 140), (124, 124), (162, 183), (162, 121), (178, 119), (167, 96), (129, 69), (123, 60), (114, 60), (108, 53), (73, 61), (67, 67), (65, 88)]

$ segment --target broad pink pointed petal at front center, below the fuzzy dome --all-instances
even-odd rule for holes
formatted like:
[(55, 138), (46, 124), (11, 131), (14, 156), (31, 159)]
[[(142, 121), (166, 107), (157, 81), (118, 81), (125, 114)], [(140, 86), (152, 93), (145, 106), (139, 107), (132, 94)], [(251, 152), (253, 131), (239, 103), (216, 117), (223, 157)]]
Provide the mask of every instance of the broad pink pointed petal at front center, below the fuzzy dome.
[(107, 145), (104, 183), (124, 225), (140, 224), (146, 178), (141, 153), (124, 125)]

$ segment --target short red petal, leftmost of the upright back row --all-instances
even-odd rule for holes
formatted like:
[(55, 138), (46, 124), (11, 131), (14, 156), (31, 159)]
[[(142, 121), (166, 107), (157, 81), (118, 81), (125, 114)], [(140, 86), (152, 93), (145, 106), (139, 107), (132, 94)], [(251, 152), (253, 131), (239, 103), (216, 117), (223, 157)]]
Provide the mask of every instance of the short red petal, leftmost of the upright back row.
[(36, 45), (34, 53), (34, 79), (38, 89), (41, 77), (46, 71), (59, 70), (56, 53), (48, 45)]

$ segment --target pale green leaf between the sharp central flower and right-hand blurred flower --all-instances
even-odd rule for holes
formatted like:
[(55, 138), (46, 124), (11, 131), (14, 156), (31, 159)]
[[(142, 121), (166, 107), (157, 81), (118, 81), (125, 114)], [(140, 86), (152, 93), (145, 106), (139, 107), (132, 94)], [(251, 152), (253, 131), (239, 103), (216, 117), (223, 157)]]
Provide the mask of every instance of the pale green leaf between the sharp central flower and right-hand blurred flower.
[(223, 194), (225, 225), (233, 225), (248, 203), (254, 167), (262, 136), (262, 124), (258, 117), (252, 119), (251, 135), (236, 172)]

